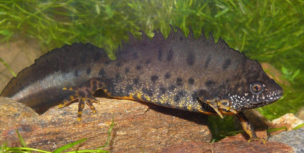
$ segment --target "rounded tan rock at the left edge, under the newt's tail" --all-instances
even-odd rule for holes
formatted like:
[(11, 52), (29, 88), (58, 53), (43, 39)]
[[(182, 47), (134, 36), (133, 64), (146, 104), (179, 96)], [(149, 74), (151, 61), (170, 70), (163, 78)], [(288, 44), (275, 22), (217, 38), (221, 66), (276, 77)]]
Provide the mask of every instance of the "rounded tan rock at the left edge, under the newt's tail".
[(0, 133), (19, 124), (22, 119), (37, 117), (33, 109), (12, 99), (0, 97)]

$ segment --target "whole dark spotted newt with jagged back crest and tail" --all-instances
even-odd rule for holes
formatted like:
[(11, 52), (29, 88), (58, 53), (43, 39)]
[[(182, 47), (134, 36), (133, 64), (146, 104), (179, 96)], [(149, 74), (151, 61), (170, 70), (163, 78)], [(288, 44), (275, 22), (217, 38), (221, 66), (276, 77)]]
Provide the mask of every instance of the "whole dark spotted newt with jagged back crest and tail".
[[(38, 112), (78, 99), (79, 120), (85, 103), (95, 112), (92, 102), (98, 101), (92, 95), (99, 89), (111, 97), (221, 117), (239, 112), (237, 116), (246, 123), (243, 127), (252, 129), (246, 131), (250, 140), (261, 140), (240, 111), (275, 102), (282, 96), (282, 88), (257, 61), (230, 48), (221, 38), (216, 44), (211, 33), (206, 39), (202, 31), (195, 39), (191, 28), (188, 37), (175, 28), (176, 33), (171, 26), (166, 39), (159, 29), (153, 31), (152, 40), (141, 30), (141, 41), (129, 32), (129, 43), (122, 41), (116, 60), (89, 43), (56, 48), (22, 70), (1, 96)], [(256, 86), (261, 90), (253, 91)]]

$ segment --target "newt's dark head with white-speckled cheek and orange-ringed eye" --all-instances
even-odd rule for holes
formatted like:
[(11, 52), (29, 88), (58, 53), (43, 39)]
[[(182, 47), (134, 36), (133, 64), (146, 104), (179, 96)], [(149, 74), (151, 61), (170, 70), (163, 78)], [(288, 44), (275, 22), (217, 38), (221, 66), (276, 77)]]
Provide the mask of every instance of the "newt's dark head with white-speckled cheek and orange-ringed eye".
[(235, 110), (262, 107), (282, 97), (282, 87), (267, 76), (256, 60), (246, 61), (243, 74), (236, 76), (237, 79), (231, 82), (233, 89), (228, 89), (231, 106)]

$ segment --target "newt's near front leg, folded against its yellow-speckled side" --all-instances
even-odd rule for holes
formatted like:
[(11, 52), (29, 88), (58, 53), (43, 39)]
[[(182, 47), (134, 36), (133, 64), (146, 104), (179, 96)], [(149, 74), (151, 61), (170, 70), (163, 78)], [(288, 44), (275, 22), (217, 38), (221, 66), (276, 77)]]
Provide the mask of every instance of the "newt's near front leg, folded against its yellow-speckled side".
[(214, 111), (223, 118), (223, 115), (221, 112), (219, 112), (219, 109), (225, 109), (227, 111), (233, 112), (236, 114), (237, 112), (231, 107), (231, 103), (228, 99), (219, 99), (219, 97), (210, 95), (206, 90), (198, 90), (197, 91), (198, 98), (211, 106)]

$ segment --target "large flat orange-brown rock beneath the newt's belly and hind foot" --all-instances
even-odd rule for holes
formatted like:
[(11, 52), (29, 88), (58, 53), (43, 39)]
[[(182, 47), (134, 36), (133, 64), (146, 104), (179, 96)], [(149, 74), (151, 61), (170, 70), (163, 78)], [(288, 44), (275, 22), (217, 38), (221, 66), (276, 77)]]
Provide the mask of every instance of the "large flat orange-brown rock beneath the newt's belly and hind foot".
[[(73, 103), (62, 109), (51, 108), (38, 118), (24, 119), (19, 132), (32, 148), (54, 151), (88, 138), (79, 149), (95, 149), (105, 143), (115, 112), (110, 144), (105, 148), (112, 152), (159, 152), (171, 144), (211, 140), (206, 115), (130, 100), (99, 100), (94, 115), (85, 107), (81, 122), (76, 119), (78, 103)], [(0, 141), (20, 146), (14, 130), (2, 132)]]

